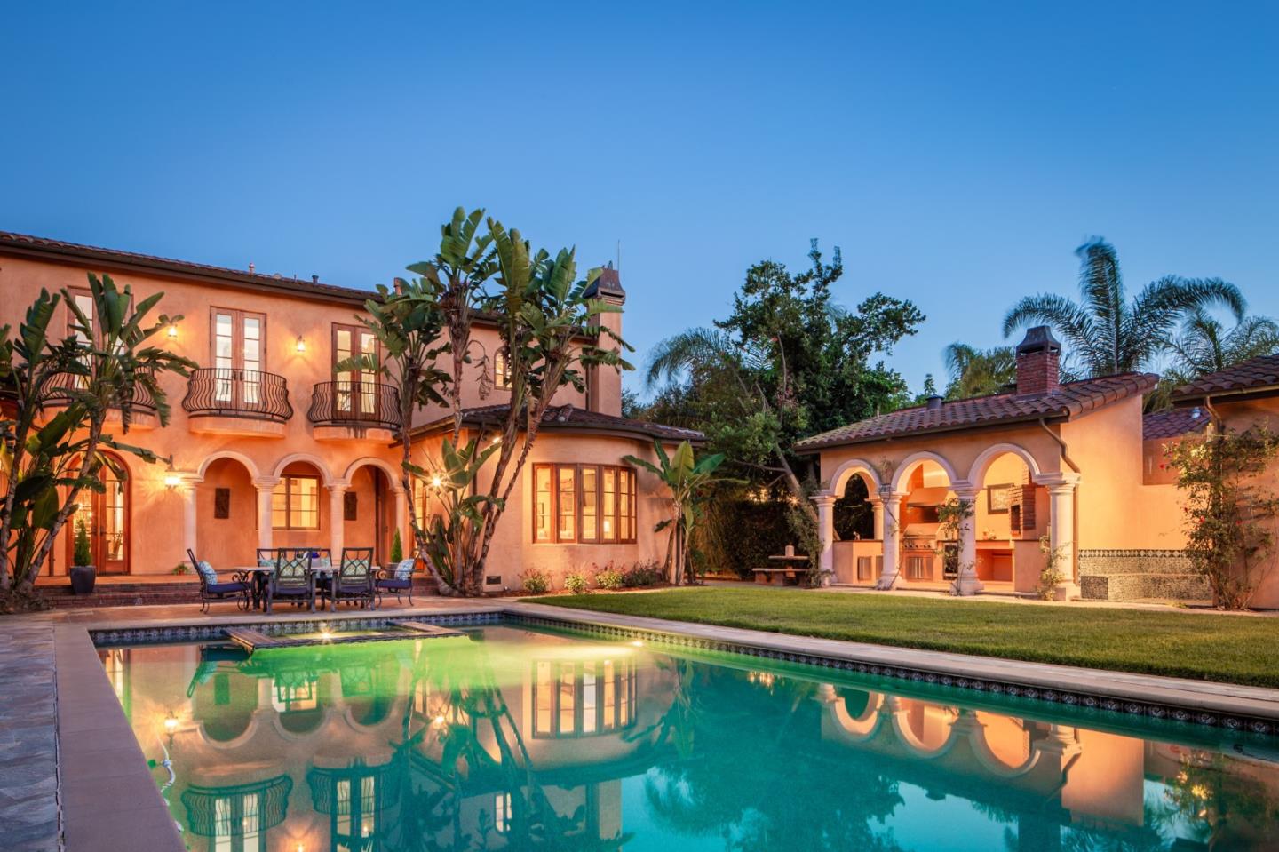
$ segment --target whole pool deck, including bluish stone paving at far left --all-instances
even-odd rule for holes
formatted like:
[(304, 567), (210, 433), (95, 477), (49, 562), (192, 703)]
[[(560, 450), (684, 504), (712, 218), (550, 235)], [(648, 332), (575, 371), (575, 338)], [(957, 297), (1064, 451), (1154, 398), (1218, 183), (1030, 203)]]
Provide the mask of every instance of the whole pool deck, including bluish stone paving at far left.
[[(266, 617), (233, 605), (207, 615), (193, 606), (55, 610), (0, 620), (0, 820), (6, 849), (110, 852), (184, 849), (168, 806), (92, 643), (90, 631), (345, 622), (509, 614), (618, 636), (670, 637), (679, 645), (744, 650), (771, 659), (883, 668), (890, 677), (929, 673), (939, 682), (1021, 684), (1037, 693), (1071, 692), (1119, 702), (1183, 707), (1214, 718), (1266, 720), (1279, 732), (1279, 690), (1045, 665), (764, 631), (501, 600), (427, 599), (414, 606)], [(1048, 706), (1048, 705), (1046, 705)]]

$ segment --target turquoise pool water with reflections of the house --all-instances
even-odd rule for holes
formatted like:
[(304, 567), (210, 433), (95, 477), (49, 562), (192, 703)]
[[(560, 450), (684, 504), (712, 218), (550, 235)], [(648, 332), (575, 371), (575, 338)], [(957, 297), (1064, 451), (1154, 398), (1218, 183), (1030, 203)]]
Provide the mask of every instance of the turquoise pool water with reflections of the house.
[(1243, 734), (522, 627), (100, 655), (192, 849), (1279, 848)]

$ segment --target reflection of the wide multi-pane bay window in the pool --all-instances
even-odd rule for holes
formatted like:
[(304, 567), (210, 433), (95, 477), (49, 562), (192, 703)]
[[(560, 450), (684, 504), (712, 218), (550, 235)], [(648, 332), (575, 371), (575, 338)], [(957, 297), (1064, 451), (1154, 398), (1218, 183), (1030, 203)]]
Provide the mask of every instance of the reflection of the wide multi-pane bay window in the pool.
[(533, 664), (533, 736), (582, 737), (634, 722), (632, 660), (538, 660)]

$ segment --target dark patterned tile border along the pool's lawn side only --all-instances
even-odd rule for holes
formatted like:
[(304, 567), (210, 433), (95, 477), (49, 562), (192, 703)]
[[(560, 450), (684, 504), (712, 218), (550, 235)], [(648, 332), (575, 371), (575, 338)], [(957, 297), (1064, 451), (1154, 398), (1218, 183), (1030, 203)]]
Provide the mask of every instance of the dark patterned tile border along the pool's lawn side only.
[(861, 663), (857, 660), (839, 659), (831, 656), (820, 656), (820, 655), (802, 654), (794, 651), (779, 651), (775, 649), (757, 647), (753, 645), (744, 645), (741, 642), (705, 640), (696, 636), (686, 636), (683, 633), (641, 629), (634, 627), (614, 627), (610, 624), (592, 624), (585, 622), (561, 620), (558, 618), (542, 618), (538, 615), (528, 615), (524, 613), (506, 613), (504, 620), (506, 623), (513, 623), (513, 624), (554, 627), (556, 629), (577, 631), (592, 636), (604, 636), (608, 638), (616, 638), (616, 640), (629, 640), (629, 641), (641, 640), (643, 642), (652, 642), (657, 645), (671, 645), (675, 647), (688, 647), (701, 651), (725, 651), (730, 654), (744, 654), (748, 656), (776, 660), (779, 663), (799, 663), (803, 665), (840, 669), (849, 673), (894, 678), (898, 681), (912, 681), (917, 683), (929, 683), (957, 690), (972, 690), (975, 692), (986, 692), (989, 695), (1007, 695), (1014, 698), (1044, 701), (1049, 704), (1062, 704), (1069, 707), (1096, 710), (1100, 713), (1113, 714), (1113, 715), (1147, 716), (1150, 719), (1159, 719), (1173, 723), (1207, 725), (1207, 727), (1225, 728), (1229, 730), (1239, 730), (1239, 732), (1271, 736), (1271, 737), (1279, 736), (1279, 724), (1271, 723), (1267, 719), (1260, 719), (1243, 714), (1195, 711), (1175, 705), (1115, 698), (1113, 696), (1106, 696), (1101, 693), (1079, 692), (1072, 690), (1045, 690), (1040, 687), (1024, 686), (1021, 683), (1014, 683), (1008, 681), (955, 677), (952, 674), (939, 674), (936, 672), (930, 672), (927, 669), (920, 669), (920, 668), (900, 667), (900, 665), (877, 665), (872, 663)]

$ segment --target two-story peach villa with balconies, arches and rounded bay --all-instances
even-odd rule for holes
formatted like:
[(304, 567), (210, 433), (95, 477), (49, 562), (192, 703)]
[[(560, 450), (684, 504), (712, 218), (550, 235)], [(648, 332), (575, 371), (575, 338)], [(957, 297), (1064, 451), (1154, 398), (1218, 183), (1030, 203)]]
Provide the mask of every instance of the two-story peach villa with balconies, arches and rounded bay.
[[(160, 311), (183, 316), (162, 344), (201, 365), (189, 379), (162, 380), (174, 414), (166, 429), (143, 404), (129, 431), (129, 443), (171, 457), (171, 468), (123, 457), (128, 477), (104, 469), (105, 491), (78, 510), (100, 573), (171, 573), (188, 548), (220, 569), (252, 564), (256, 548), (281, 546), (371, 546), (385, 564), (395, 530), (412, 551), (393, 445), (396, 390), (335, 370), (375, 353), (357, 320), (370, 290), (0, 232), (0, 325), (15, 329), (41, 288), (87, 298), (87, 272), (110, 274), (138, 297), (162, 292)], [(616, 270), (605, 270), (595, 289), (625, 302)], [(70, 312), (59, 310), (69, 327)], [(604, 321), (620, 333), (620, 313)], [(498, 333), (483, 320), (475, 338), (495, 353)], [(495, 389), (481, 398), (478, 368), (464, 388), (468, 429), (482, 427), (509, 394), (499, 363)], [(655, 438), (701, 435), (623, 418), (614, 370), (591, 371), (585, 393), (565, 388), (555, 402), (500, 522), (490, 588), (518, 588), (530, 567), (558, 574), (664, 555), (664, 541), (643, 535), (665, 514), (661, 486), (622, 458), (651, 458)], [(421, 412), (421, 430), (444, 414)], [(67, 573), (73, 528), (55, 548), (52, 576)]]

